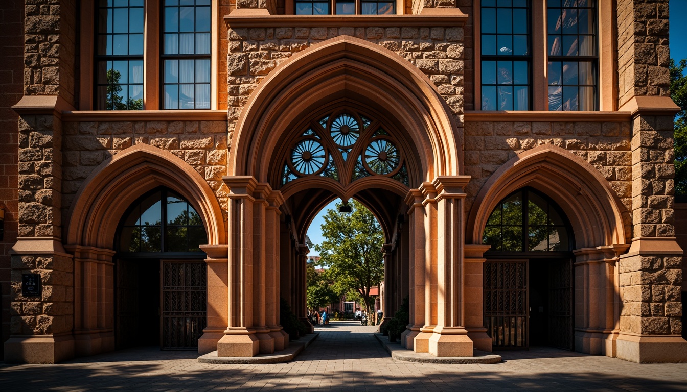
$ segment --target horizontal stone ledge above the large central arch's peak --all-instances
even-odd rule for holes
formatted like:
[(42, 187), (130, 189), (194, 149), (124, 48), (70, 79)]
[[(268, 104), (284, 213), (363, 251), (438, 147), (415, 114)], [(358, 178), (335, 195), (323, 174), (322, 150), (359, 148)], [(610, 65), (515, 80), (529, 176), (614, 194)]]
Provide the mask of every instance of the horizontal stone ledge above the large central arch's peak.
[[(446, 10), (446, 11), (444, 11)], [(227, 27), (462, 27), (468, 16), (458, 8), (421, 15), (269, 15), (243, 8), (224, 17)], [(238, 11), (238, 12), (237, 12)]]

